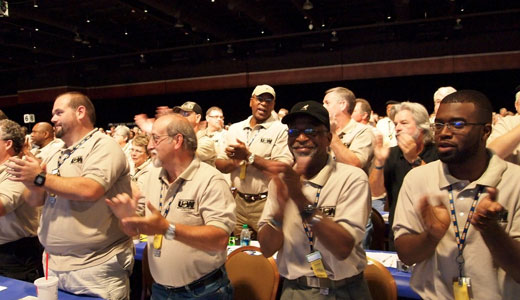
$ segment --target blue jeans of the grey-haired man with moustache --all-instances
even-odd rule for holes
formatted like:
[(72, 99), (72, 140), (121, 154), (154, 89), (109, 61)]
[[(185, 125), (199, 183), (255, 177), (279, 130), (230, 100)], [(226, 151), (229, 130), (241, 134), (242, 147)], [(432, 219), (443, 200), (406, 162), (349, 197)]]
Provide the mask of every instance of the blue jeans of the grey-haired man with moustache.
[(154, 283), (152, 285), (151, 300), (231, 300), (233, 299), (233, 287), (227, 277), (226, 269), (221, 268), (223, 276), (216, 281), (194, 290), (184, 290), (182, 292), (174, 292), (167, 287)]

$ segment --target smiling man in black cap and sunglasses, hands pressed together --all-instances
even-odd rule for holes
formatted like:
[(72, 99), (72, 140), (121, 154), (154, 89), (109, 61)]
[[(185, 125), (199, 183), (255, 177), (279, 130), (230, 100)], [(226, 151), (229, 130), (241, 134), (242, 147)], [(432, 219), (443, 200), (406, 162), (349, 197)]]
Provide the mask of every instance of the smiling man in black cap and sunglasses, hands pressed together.
[(361, 246), (370, 211), (367, 176), (328, 153), (329, 113), (320, 103), (296, 104), (283, 123), (296, 165), (272, 177), (258, 233), (266, 257), (278, 251), (281, 299), (370, 299)]

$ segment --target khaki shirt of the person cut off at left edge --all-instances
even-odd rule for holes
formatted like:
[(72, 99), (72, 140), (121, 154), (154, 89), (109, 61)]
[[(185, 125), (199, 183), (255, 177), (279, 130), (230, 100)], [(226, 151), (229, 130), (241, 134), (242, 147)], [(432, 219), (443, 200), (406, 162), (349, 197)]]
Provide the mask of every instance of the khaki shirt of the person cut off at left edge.
[(30, 207), (21, 197), (25, 185), (9, 180), (6, 169), (0, 165), (0, 203), (6, 211), (0, 216), (0, 245), (36, 236), (40, 218), (40, 208)]

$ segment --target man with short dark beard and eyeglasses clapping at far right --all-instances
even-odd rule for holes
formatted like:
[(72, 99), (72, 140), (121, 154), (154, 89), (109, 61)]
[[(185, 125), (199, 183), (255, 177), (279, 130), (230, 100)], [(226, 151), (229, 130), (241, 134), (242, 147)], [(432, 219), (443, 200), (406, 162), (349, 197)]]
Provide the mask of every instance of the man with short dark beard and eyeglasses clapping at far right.
[(435, 117), (440, 160), (405, 177), (393, 230), (423, 299), (518, 299), (520, 167), (486, 149), (493, 107), (477, 91), (446, 96)]

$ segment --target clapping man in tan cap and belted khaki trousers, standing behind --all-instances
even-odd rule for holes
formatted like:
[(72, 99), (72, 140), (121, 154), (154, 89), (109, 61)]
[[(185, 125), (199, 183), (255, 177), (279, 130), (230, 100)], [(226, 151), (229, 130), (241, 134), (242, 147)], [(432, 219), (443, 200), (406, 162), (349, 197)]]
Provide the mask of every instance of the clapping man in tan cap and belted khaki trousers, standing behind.
[(264, 173), (281, 163), (292, 163), (287, 147), (287, 126), (272, 116), (276, 93), (266, 84), (251, 94), (252, 116), (231, 125), (226, 135), (225, 152), (219, 154), (217, 168), (231, 174), (236, 188), (237, 224), (235, 235), (247, 224), (258, 232), (258, 219), (267, 199), (269, 177)]

